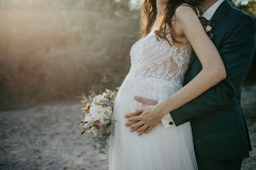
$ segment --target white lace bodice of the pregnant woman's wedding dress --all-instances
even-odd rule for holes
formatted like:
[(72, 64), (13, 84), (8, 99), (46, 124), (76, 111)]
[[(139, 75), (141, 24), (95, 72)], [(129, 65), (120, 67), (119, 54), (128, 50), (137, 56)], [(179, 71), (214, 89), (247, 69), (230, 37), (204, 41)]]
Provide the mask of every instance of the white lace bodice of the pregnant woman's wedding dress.
[[(182, 87), (192, 55), (192, 46), (187, 44), (178, 49), (170, 46), (164, 39), (157, 41), (154, 30), (132, 46), (130, 71), (119, 90), (120, 93), (147, 93), (150, 88), (150, 93), (157, 97), (166, 93), (163, 87)], [(171, 42), (171, 38), (169, 41)]]

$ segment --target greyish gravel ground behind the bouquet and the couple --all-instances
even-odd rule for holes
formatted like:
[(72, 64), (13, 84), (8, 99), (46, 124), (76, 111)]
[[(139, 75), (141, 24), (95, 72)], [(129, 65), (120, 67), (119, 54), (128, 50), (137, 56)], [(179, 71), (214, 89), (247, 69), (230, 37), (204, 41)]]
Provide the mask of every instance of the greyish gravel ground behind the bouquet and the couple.
[[(256, 86), (243, 90), (254, 148), (243, 170), (256, 169), (256, 123), (250, 118), (255, 118), (255, 93)], [(80, 135), (80, 110), (81, 104), (63, 102), (0, 111), (0, 169), (108, 169), (107, 153), (98, 155), (88, 145), (91, 138)]]

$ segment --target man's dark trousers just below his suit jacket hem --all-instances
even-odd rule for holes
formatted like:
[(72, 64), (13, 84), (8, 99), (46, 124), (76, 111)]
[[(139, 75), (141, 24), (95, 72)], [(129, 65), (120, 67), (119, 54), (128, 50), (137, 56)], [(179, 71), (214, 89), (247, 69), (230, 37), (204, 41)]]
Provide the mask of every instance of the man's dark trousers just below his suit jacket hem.
[(234, 160), (213, 160), (196, 154), (199, 170), (240, 170), (243, 158)]

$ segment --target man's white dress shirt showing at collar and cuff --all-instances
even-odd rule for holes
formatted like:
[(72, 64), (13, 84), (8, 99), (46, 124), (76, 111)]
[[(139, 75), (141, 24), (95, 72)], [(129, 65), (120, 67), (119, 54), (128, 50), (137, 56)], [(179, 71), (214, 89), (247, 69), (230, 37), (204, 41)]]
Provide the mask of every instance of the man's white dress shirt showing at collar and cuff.
[[(206, 12), (204, 12), (202, 14), (202, 17), (206, 18), (207, 20), (212, 19), (214, 13), (216, 12), (217, 8), (220, 7), (220, 5), (222, 4), (222, 2), (224, 2), (225, 0), (218, 0), (217, 2), (215, 2), (210, 8), (208, 8), (206, 10)], [(161, 101), (158, 101), (158, 103)], [(169, 128), (171, 126), (176, 126), (175, 125), (175, 121), (173, 121), (171, 114), (165, 114), (165, 116), (162, 118), (161, 120), (162, 124), (164, 125), (164, 128)]]

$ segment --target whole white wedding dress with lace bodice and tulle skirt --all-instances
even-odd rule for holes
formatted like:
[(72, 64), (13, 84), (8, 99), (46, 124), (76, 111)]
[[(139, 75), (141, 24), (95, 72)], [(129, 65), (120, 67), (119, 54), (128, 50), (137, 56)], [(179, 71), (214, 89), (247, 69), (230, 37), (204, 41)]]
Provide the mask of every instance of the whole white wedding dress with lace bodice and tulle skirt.
[(125, 114), (142, 107), (134, 96), (164, 100), (182, 88), (192, 54), (190, 44), (177, 49), (157, 41), (154, 29), (136, 42), (131, 67), (116, 96), (109, 140), (109, 170), (197, 169), (190, 122), (164, 128), (159, 123), (149, 134), (137, 136), (126, 128)]

